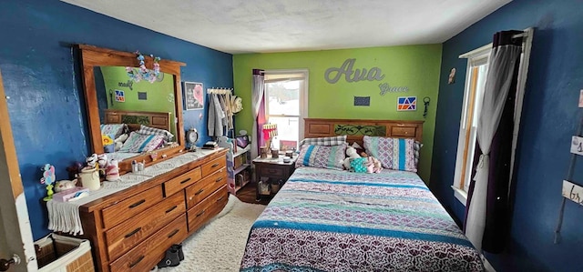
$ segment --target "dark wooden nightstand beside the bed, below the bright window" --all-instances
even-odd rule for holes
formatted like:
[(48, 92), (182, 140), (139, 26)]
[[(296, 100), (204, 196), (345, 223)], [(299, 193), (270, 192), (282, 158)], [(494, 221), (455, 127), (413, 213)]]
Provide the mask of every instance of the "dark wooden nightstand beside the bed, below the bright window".
[(257, 199), (277, 194), (281, 186), (292, 176), (297, 158), (298, 156), (294, 154), (289, 163), (283, 162), (283, 156), (278, 158), (258, 156), (253, 160)]

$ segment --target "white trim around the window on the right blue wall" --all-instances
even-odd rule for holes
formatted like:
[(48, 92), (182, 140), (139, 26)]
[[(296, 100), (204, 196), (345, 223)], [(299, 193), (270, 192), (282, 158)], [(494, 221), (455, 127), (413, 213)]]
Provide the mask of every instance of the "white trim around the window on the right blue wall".
[[(514, 132), (513, 132), (513, 139), (512, 139), (512, 154), (511, 154), (511, 161), (510, 161), (510, 182), (508, 183), (508, 187), (512, 186), (512, 176), (513, 171), (514, 171), (514, 164), (515, 164), (515, 155), (516, 155), (516, 151), (517, 151), (517, 141), (518, 141), (518, 132), (519, 132), (519, 128), (520, 128), (520, 117), (522, 116), (522, 105), (524, 103), (524, 96), (525, 96), (525, 86), (527, 85), (527, 74), (528, 74), (528, 65), (529, 65), (529, 60), (530, 60), (530, 52), (532, 49), (532, 39), (533, 39), (533, 35), (534, 35), (534, 28), (533, 27), (529, 27), (527, 29), (524, 30), (524, 34), (523, 34), (523, 42), (522, 42), (522, 55), (521, 55), (521, 60), (520, 60), (520, 66), (518, 68), (518, 82), (517, 82), (517, 97), (516, 97), (516, 105), (515, 105), (515, 116), (514, 116), (514, 120), (515, 120), (515, 126), (514, 126)], [(488, 44), (488, 45), (484, 45), (482, 47), (479, 47), (475, 50), (472, 50), (470, 52), (467, 52), (465, 54), (459, 55), (459, 58), (467, 58), (468, 62), (467, 62), (467, 68), (466, 68), (466, 75), (465, 75), (465, 86), (464, 86), (464, 92), (465, 90), (468, 88), (468, 80), (467, 77), (469, 76), (469, 73), (471, 73), (471, 65), (473, 64), (473, 62), (471, 61), (472, 59), (477, 59), (479, 55), (483, 55), (485, 50), (486, 52), (488, 52), (490, 49), (492, 48), (492, 43)], [(466, 103), (466, 97), (464, 97), (464, 108), (465, 108), (465, 103)], [(462, 115), (462, 120), (461, 122), (464, 122), (463, 120), (464, 116)], [(461, 125), (461, 124), (460, 124)], [(459, 143), (457, 148), (459, 149)], [(453, 186), (452, 189), (454, 191), (454, 196), (457, 200), (459, 200), (459, 202), (461, 202), (464, 206), (467, 202), (467, 192), (465, 192), (463, 189), (460, 189), (460, 174), (458, 173), (460, 171), (457, 170), (457, 161), (459, 158), (460, 154), (459, 152), (457, 153), (456, 157), (455, 157), (455, 176), (454, 176), (454, 182), (453, 182)], [(508, 190), (508, 193), (510, 193), (510, 190)]]

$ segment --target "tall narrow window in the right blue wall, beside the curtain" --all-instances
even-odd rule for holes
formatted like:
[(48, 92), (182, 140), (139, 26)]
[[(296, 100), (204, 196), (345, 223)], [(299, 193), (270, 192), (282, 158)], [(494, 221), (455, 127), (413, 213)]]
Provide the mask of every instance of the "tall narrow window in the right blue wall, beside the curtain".
[(477, 121), (486, 86), (488, 56), (491, 45), (480, 47), (470, 52), (465, 75), (464, 104), (457, 139), (457, 156), (455, 159), (454, 192), (465, 204), (468, 187), (472, 178), (472, 166), (476, 155)]

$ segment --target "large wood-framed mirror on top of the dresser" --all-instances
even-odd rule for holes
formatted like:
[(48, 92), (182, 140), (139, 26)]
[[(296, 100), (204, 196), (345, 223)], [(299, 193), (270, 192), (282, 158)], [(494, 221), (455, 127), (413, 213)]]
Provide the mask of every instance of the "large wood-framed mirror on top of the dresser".
[[(128, 73), (139, 73), (137, 54), (77, 46), (93, 153), (117, 159), (120, 172), (126, 173), (134, 160), (148, 166), (184, 150), (180, 90), (184, 63), (159, 60), (158, 75), (137, 80)], [(154, 66), (150, 56), (144, 55), (144, 62), (148, 69)], [(105, 136), (113, 144), (104, 146)]]

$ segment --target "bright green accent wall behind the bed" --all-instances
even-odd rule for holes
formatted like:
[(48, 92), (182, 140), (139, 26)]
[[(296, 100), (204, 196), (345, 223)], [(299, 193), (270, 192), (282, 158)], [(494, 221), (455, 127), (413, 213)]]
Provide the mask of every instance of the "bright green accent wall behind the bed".
[[(312, 118), (424, 120), (424, 147), (421, 149), (419, 176), (428, 183), (435, 131), (435, 109), (439, 88), (442, 45), (404, 45), (292, 53), (233, 55), (235, 95), (243, 100), (243, 110), (235, 116), (236, 129), (251, 132), (252, 69), (308, 69), (309, 106)], [(346, 59), (356, 59), (353, 71), (380, 68), (380, 81), (347, 82), (341, 76), (335, 84), (324, 79), (326, 69), (340, 68)], [(335, 73), (332, 73), (332, 77)], [(351, 76), (353, 77), (353, 76)], [(408, 87), (407, 92), (381, 95), (379, 85)], [(370, 96), (370, 106), (353, 106), (354, 96)], [(417, 110), (398, 112), (398, 96), (417, 96)], [(424, 118), (423, 98), (431, 103)]]

